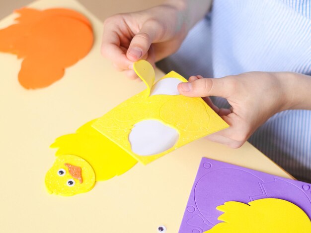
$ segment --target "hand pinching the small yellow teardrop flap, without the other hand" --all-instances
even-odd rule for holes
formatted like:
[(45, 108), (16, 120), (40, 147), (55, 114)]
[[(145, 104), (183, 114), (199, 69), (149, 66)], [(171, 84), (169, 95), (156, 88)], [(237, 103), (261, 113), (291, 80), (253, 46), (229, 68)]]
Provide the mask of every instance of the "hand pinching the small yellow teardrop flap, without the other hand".
[(101, 53), (135, 79), (135, 61), (145, 59), (155, 66), (178, 50), (187, 34), (183, 21), (180, 11), (168, 4), (111, 16), (104, 22)]

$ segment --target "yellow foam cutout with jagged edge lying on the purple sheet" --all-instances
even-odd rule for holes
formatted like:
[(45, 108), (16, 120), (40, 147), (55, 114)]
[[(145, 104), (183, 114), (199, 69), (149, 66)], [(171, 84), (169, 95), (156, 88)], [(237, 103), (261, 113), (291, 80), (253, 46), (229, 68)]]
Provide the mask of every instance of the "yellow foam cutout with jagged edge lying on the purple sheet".
[(224, 221), (205, 233), (307, 233), (311, 221), (295, 204), (276, 198), (251, 201), (248, 204), (229, 201), (218, 206), (225, 212)]

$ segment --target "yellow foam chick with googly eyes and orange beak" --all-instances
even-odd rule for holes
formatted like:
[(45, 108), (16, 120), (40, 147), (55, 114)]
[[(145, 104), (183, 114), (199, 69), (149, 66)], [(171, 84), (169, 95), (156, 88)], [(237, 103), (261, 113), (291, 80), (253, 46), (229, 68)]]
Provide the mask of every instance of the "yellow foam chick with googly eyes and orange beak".
[[(50, 193), (70, 196), (87, 192), (95, 181), (122, 175), (137, 163), (131, 155), (91, 127), (95, 121), (87, 122), (76, 133), (57, 138), (51, 145), (58, 150), (56, 161), (46, 175), (45, 183)], [(82, 169), (82, 183), (70, 175), (66, 163)], [(66, 175), (60, 176), (60, 169), (64, 169)], [(69, 179), (75, 180), (74, 186), (67, 185)]]

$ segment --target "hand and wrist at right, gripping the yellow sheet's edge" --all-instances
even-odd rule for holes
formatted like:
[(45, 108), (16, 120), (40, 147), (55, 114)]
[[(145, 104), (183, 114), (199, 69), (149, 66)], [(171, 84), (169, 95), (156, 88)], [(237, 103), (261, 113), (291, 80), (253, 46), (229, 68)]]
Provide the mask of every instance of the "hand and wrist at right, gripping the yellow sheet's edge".
[[(248, 72), (224, 78), (191, 76), (180, 94), (203, 97), (229, 125), (208, 136), (211, 141), (240, 147), (269, 117), (288, 109), (311, 109), (311, 78), (290, 72)], [(232, 108), (219, 109), (208, 96), (226, 98)], [(309, 96), (309, 97), (308, 97)]]

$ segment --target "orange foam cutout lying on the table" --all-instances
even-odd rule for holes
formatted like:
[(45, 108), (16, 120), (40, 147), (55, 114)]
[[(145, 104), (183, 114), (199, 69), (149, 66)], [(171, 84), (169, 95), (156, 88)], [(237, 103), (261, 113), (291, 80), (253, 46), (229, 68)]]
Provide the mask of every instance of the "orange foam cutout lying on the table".
[(65, 68), (85, 57), (93, 44), (90, 22), (64, 8), (22, 8), (17, 23), (0, 30), (0, 52), (22, 58), (19, 83), (26, 89), (47, 87)]

